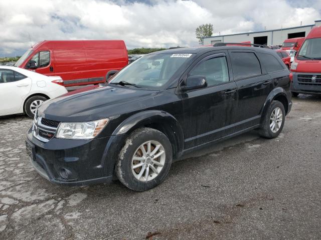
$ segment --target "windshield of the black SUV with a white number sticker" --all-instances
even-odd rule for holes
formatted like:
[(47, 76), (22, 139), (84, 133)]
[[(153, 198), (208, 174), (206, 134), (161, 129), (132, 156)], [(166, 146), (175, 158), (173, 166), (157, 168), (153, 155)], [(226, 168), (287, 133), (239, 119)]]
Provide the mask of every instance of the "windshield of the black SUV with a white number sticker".
[(138, 87), (161, 89), (192, 55), (164, 53), (142, 56), (119, 71), (108, 83), (125, 81)]

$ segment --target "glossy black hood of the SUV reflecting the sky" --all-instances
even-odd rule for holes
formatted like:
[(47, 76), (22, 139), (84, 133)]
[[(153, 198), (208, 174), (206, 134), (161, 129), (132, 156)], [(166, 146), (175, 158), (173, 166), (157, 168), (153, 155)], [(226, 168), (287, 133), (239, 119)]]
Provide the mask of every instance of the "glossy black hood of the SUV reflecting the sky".
[(157, 93), (158, 90), (94, 85), (45, 101), (38, 108), (38, 115), (57, 121), (97, 120), (128, 111), (129, 105), (139, 107), (135, 102)]

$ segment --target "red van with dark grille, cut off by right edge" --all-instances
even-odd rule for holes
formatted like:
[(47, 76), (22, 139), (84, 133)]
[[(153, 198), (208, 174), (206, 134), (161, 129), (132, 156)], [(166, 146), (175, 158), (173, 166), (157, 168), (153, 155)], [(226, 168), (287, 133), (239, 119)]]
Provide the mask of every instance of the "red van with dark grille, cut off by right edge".
[(321, 26), (313, 27), (291, 64), (291, 91), (321, 94)]

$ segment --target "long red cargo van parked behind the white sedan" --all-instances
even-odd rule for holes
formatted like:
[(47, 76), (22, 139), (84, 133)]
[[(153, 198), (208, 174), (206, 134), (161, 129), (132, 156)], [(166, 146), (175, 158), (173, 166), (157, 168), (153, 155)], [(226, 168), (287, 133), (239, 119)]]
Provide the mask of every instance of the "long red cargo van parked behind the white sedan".
[(15, 66), (60, 76), (65, 86), (105, 82), (109, 70), (128, 63), (123, 40), (44, 40), (27, 50)]

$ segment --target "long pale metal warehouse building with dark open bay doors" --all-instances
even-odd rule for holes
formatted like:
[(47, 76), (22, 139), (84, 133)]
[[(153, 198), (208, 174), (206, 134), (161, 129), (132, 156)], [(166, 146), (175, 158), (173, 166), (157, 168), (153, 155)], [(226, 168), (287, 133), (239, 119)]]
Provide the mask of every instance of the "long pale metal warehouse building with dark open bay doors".
[(213, 45), (216, 42), (242, 41), (251, 41), (255, 44), (281, 45), (285, 39), (306, 36), (313, 26), (321, 25), (321, 20), (315, 20), (314, 22), (312, 25), (305, 26), (204, 37), (203, 45)]

